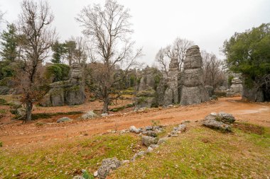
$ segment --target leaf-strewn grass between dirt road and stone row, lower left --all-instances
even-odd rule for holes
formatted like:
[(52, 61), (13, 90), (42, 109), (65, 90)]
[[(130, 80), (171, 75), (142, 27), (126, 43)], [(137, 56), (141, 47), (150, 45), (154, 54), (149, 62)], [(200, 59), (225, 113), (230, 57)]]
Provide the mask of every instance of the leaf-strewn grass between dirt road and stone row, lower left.
[(72, 178), (82, 169), (93, 173), (104, 158), (131, 158), (139, 142), (128, 134), (107, 134), (41, 149), (0, 151), (0, 178)]

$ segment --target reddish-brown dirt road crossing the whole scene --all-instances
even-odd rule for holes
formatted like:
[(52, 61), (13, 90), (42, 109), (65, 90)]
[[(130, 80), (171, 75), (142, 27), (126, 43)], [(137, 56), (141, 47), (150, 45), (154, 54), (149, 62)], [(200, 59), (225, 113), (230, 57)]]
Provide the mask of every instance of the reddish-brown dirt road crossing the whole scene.
[[(124, 104), (124, 102), (122, 102)], [(101, 104), (87, 103), (77, 108), (35, 108), (34, 112), (69, 112), (100, 109)], [(220, 98), (217, 101), (199, 105), (176, 106), (173, 108), (153, 108), (142, 112), (133, 112), (132, 108), (114, 113), (112, 116), (99, 117), (94, 120), (75, 120), (80, 115), (68, 115), (74, 119), (72, 122), (57, 124), (58, 115), (50, 119), (36, 120), (31, 123), (21, 124), (16, 122), (5, 125), (0, 129), (0, 141), (4, 148), (31, 145), (50, 145), (51, 142), (63, 142), (63, 139), (92, 136), (107, 132), (109, 129), (127, 129), (131, 125), (145, 127), (152, 121), (159, 121), (161, 125), (175, 125), (183, 120), (202, 120), (210, 112), (229, 112), (238, 121), (250, 122), (257, 125), (270, 127), (270, 103), (246, 103), (239, 97)], [(66, 115), (67, 116), (67, 115)], [(0, 121), (1, 122), (1, 121)], [(29, 144), (31, 144), (29, 146)]]

